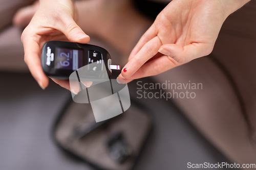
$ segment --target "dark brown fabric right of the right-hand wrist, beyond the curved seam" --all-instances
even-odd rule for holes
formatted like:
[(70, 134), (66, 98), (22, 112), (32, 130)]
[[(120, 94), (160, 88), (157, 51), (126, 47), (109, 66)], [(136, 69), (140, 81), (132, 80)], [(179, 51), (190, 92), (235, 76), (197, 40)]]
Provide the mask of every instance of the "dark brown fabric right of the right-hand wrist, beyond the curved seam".
[(256, 2), (233, 13), (224, 23), (212, 53), (230, 72), (245, 104), (256, 142)]

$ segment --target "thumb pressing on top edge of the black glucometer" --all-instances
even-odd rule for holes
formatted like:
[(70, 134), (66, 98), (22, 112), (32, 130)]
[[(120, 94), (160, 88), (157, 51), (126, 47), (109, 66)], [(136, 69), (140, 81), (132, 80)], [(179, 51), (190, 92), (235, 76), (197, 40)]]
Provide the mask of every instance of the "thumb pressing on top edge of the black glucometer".
[(62, 26), (60, 25), (59, 31), (72, 42), (88, 43), (90, 41), (90, 37), (82, 31), (71, 16), (65, 19)]

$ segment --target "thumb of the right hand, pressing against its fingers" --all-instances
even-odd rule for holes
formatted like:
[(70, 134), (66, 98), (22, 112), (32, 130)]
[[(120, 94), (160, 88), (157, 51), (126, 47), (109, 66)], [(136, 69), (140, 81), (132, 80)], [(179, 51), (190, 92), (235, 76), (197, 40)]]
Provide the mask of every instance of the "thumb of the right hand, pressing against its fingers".
[(206, 43), (191, 43), (184, 47), (177, 44), (164, 44), (159, 53), (169, 56), (179, 63), (185, 63), (211, 53), (213, 46)]

